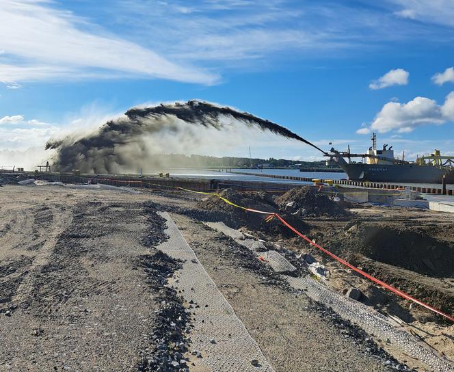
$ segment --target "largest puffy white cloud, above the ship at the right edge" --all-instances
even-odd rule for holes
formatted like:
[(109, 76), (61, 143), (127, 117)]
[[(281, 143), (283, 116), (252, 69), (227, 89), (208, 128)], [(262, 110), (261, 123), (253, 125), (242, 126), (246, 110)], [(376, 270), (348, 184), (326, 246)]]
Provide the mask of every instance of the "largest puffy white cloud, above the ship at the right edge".
[[(425, 97), (416, 97), (408, 103), (388, 102), (375, 116), (371, 126), (366, 129), (379, 133), (388, 131), (408, 133), (421, 125), (440, 125), (453, 120), (454, 92), (451, 92), (442, 105)], [(359, 129), (356, 133), (364, 134), (366, 131)]]

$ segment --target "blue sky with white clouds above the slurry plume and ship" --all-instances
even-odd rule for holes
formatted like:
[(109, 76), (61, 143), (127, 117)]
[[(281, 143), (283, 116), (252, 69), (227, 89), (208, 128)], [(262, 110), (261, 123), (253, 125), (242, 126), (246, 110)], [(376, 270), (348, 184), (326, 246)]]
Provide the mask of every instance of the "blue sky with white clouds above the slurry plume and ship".
[[(364, 152), (375, 132), (405, 159), (454, 155), (451, 0), (1, 0), (0, 36), (0, 167), (135, 105), (189, 99), (326, 149)], [(248, 146), (321, 159), (272, 136), (213, 155)]]

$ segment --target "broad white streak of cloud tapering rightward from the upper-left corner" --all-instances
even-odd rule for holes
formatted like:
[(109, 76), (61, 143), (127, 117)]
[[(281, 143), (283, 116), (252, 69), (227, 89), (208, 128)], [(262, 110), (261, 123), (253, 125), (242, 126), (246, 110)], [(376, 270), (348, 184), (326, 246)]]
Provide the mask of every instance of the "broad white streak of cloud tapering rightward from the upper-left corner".
[[(72, 78), (87, 75), (140, 76), (213, 83), (217, 76), (170, 62), (155, 51), (94, 27), (46, 0), (0, 1), (0, 81)], [(91, 28), (91, 32), (82, 29)], [(14, 58), (14, 63), (11, 61)], [(8, 62), (10, 61), (10, 62)]]

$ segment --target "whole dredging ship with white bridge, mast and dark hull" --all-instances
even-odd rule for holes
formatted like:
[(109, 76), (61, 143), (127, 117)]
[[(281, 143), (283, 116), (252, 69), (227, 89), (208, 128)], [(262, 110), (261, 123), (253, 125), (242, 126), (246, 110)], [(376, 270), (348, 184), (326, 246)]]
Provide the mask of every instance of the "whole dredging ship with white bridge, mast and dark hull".
[[(330, 163), (337, 163), (349, 180), (386, 183), (454, 183), (454, 157), (442, 156), (440, 150), (417, 157), (416, 161), (396, 159), (392, 146), (384, 144), (377, 150), (377, 135), (372, 135), (372, 146), (364, 154), (340, 152), (331, 148)], [(351, 158), (361, 157), (359, 162)], [(347, 160), (346, 160), (347, 159)]]

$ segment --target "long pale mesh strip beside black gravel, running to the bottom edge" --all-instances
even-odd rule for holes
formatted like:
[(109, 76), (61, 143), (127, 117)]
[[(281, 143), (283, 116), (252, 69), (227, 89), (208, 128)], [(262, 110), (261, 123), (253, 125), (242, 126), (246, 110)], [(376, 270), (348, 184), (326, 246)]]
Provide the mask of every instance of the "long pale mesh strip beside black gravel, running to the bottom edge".
[[(200, 351), (203, 356), (193, 362), (196, 366), (209, 367), (209, 371), (273, 372), (261, 349), (206, 273), (170, 215), (160, 214), (167, 220), (165, 233), (170, 239), (157, 248), (172, 258), (185, 261), (178, 271), (178, 280), (172, 285), (181, 290), (185, 300), (193, 306), (191, 350)], [(258, 361), (259, 367), (255, 367), (252, 360)]]

